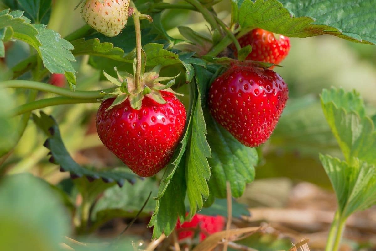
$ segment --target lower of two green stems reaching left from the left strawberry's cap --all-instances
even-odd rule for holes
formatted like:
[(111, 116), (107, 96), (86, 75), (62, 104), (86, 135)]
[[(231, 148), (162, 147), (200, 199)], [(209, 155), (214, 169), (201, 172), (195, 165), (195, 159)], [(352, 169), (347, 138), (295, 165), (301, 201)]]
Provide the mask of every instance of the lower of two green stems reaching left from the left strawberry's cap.
[[(102, 96), (103, 97), (103, 96)], [(9, 116), (18, 116), (20, 114), (29, 113), (34, 110), (45, 108), (48, 106), (55, 105), (67, 105), (67, 104), (78, 104), (78, 103), (96, 103), (102, 102), (99, 99), (72, 99), (71, 97), (52, 97), (49, 99), (41, 99), (33, 102), (26, 103), (24, 105), (18, 106), (10, 111)]]

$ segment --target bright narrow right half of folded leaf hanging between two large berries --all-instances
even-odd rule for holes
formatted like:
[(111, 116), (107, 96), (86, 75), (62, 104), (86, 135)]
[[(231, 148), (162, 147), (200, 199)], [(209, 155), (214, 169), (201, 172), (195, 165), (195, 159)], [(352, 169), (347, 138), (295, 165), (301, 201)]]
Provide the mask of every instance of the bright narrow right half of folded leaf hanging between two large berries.
[(186, 156), (186, 184), (188, 200), (190, 202), (189, 218), (193, 217), (196, 211), (203, 207), (204, 199), (209, 196), (208, 180), (210, 178), (210, 167), (207, 157), (211, 157), (211, 150), (206, 140), (206, 125), (202, 104), (205, 103), (206, 89), (210, 77), (202, 67), (195, 67), (196, 84), (198, 96), (196, 106), (193, 110), (192, 135), (190, 146)]

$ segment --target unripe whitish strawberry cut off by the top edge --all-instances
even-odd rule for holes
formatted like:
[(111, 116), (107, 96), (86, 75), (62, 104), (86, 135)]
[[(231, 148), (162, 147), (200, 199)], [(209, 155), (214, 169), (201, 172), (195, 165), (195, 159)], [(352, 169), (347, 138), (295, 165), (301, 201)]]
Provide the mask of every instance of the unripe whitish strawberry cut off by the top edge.
[(127, 23), (129, 0), (86, 0), (82, 17), (91, 27), (108, 36), (117, 36)]

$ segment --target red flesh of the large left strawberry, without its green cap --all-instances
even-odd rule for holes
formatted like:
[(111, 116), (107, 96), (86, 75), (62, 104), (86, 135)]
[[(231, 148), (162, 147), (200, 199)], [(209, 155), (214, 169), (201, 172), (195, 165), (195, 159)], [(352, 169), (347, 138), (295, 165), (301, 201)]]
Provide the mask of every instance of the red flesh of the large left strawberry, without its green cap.
[(126, 101), (106, 111), (114, 102), (102, 102), (97, 132), (103, 144), (139, 176), (159, 172), (170, 161), (186, 122), (186, 110), (174, 94), (161, 91), (165, 104), (149, 97), (135, 110)]

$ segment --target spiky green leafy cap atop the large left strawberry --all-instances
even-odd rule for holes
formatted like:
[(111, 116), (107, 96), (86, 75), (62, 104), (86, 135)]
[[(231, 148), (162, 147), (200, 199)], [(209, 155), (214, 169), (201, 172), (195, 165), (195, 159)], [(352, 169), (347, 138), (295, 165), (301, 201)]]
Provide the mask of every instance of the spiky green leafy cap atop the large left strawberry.
[[(141, 88), (136, 88), (135, 77), (126, 71), (118, 71), (115, 67), (117, 78), (114, 78), (103, 71), (105, 78), (118, 86), (118, 88), (111, 93), (101, 91), (104, 95), (103, 100), (116, 97), (106, 111), (111, 110), (111, 108), (116, 105), (120, 105), (127, 99), (129, 99), (130, 106), (135, 110), (141, 109), (141, 104), (145, 97), (153, 99), (157, 103), (165, 104), (167, 101), (162, 97), (161, 91), (167, 91), (175, 95), (183, 96), (171, 89), (171, 86), (175, 84), (175, 79), (180, 73), (173, 77), (159, 77), (160, 70), (161, 65), (157, 65), (151, 71), (141, 74)], [(168, 81), (167, 84), (161, 84), (161, 82), (164, 81)]]

